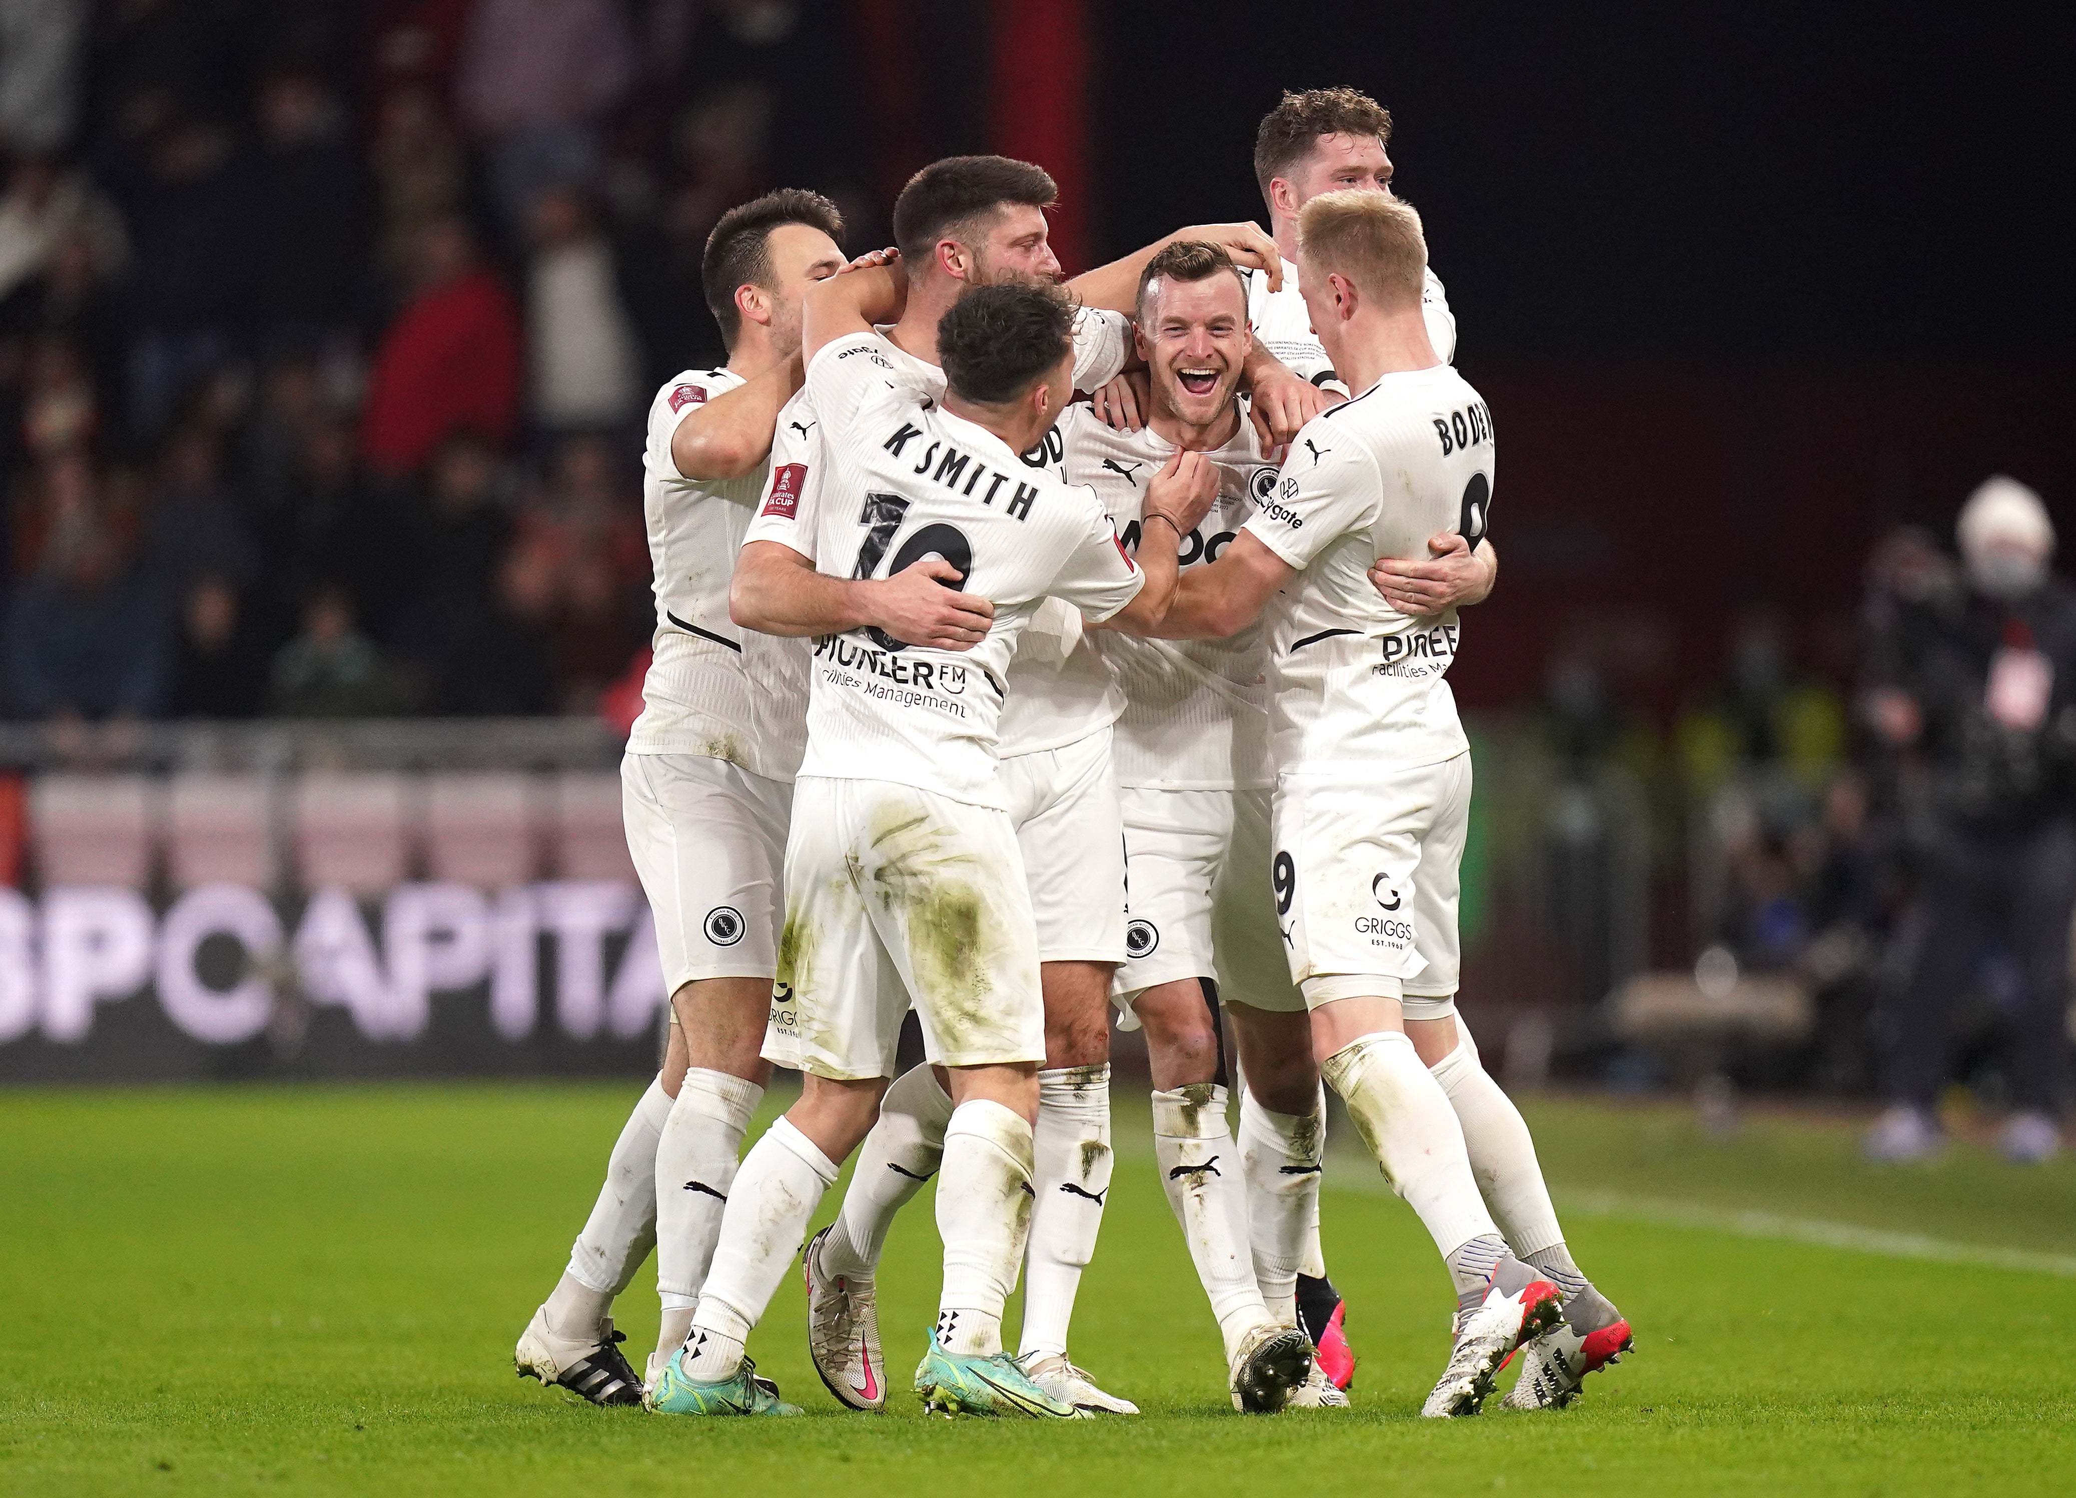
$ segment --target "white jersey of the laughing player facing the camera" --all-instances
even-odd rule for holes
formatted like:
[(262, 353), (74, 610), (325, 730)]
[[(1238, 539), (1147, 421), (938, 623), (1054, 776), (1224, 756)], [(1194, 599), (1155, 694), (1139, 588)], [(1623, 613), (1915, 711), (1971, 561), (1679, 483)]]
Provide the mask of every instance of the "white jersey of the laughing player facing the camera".
[[(1175, 455), (1175, 447), (1150, 426), (1113, 432), (1086, 405), (1069, 409), (1055, 430), (1063, 445), (1061, 478), (1094, 488), (1125, 551), (1138, 553), (1146, 484)], [(1219, 470), (1219, 499), (1183, 536), (1177, 555), (1183, 569), (1217, 561), (1254, 513), (1254, 497), (1268, 494), (1277, 480), (1277, 465), (1262, 459), (1254, 424), (1244, 418), (1233, 440), (1204, 457)], [(1169, 540), (1169, 528), (1156, 526), (1154, 544)], [(1260, 625), (1248, 625), (1229, 640), (1140, 640), (1115, 630), (1092, 638), (1125, 696), (1111, 746), (1119, 785), (1275, 785)]]

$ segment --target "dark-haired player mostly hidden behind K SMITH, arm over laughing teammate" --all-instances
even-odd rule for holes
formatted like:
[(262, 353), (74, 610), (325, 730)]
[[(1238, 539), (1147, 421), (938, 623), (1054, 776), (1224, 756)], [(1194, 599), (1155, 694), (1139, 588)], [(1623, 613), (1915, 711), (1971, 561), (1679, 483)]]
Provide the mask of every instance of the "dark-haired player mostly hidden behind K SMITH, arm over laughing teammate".
[[(882, 357), (901, 380), (940, 395), (940, 324), (974, 287), (1053, 283), (1059, 260), (1046, 239), (1044, 210), (1053, 179), (1030, 162), (955, 156), (916, 172), (895, 204), (895, 237), (907, 276), (907, 303), (884, 328)], [(1254, 224), (1210, 224), (1173, 239), (1225, 247), (1233, 258), (1279, 274), (1266, 235)], [(1073, 318), (1073, 384), (1094, 389), (1131, 357), (1138, 278), (1160, 245), (1148, 245), (1067, 283), (1084, 303)], [(1287, 382), (1295, 376), (1283, 372)], [(1298, 382), (1302, 384), (1302, 382)], [(1306, 386), (1310, 391), (1310, 386)], [(1316, 395), (1316, 391), (1312, 391)], [(1042, 467), (1053, 447), (1028, 453)], [(826, 459), (816, 403), (803, 391), (785, 409), (772, 447), (772, 492), (747, 532), (735, 567), (737, 617), (774, 627), (770, 605), (789, 609), (820, 598), (824, 627), (839, 627), (841, 588), (818, 580), (793, 544), (797, 515), (812, 501)], [(940, 569), (945, 563), (918, 563)], [(945, 590), (967, 607), (978, 598)], [(795, 615), (797, 617), (797, 615)], [(965, 642), (982, 638), (986, 619)], [(1075, 611), (1053, 603), (1038, 611), (1005, 679), (1001, 781), (1017, 829), (1032, 906), (1046, 1012), (1044, 1109), (1038, 1122), (1038, 1201), (1026, 1267), (1019, 1357), (1057, 1396), (1090, 1411), (1136, 1413), (1107, 1394), (1067, 1357), (1067, 1328), (1082, 1269), (1088, 1265), (1111, 1182), (1109, 989), (1125, 960), (1123, 814), (1111, 773), (1111, 723), (1123, 700), (1109, 671), (1082, 638)], [(918, 640), (918, 636), (899, 636)], [(880, 1367), (874, 1269), (895, 1213), (938, 1168), (951, 1097), (930, 1068), (901, 1076), (886, 1095), (843, 1213), (808, 1253), (810, 1348), (822, 1382), (855, 1409), (878, 1409)]]

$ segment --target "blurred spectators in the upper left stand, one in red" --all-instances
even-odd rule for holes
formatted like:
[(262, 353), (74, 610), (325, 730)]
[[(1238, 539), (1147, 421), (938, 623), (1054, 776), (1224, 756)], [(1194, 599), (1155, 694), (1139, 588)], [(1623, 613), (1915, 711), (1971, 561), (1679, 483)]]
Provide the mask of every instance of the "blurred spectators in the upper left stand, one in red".
[[(588, 713), (793, 0), (0, 0), (0, 711)], [(816, 135), (816, 131), (822, 135)]]

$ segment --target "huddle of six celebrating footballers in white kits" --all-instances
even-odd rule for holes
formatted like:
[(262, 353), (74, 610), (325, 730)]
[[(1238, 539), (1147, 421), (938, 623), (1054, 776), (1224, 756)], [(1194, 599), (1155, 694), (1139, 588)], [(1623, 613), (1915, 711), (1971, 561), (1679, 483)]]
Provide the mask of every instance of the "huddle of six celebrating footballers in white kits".
[[(1424, 1415), (1478, 1413), (1515, 1350), (1511, 1409), (1628, 1350), (1455, 1010), (1445, 673), (1497, 576), (1493, 420), (1389, 129), (1354, 89), (1287, 93), (1254, 148), (1273, 237), (1183, 229), (1065, 283), (1053, 179), (1001, 156), (920, 170), (855, 260), (812, 191), (716, 224), (729, 362), (650, 407), (656, 657), (621, 769), (668, 1045), (521, 1373), (797, 1413), (745, 1342), (801, 1255), (822, 1382), (882, 1409), (876, 1265), (934, 1176), (926, 1407), (1136, 1415), (1067, 1353), (1113, 1006), (1235, 1409), (1347, 1405), (1322, 1080), (1455, 1284)], [(897, 1078), (909, 1010), (926, 1062)], [(799, 1101), (741, 1155), (772, 1064)], [(610, 1311), (650, 1247), (644, 1380)]]

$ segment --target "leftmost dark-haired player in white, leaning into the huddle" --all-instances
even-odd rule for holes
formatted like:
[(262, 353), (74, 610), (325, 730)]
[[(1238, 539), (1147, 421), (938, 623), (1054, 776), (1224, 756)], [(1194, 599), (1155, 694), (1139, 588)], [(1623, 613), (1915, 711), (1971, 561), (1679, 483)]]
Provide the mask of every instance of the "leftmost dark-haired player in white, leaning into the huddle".
[[(644, 511), (656, 638), (621, 785), (671, 993), (668, 1045), (612, 1147), (569, 1269), (515, 1353), (521, 1373), (596, 1405), (641, 1398), (610, 1309), (652, 1242), (658, 1348), (668, 1355), (685, 1340), (720, 1199), (770, 1076), (758, 1047), (778, 960), (808, 652), (737, 630), (729, 576), (714, 559), (735, 555), (764, 492), (770, 422), (795, 384), (787, 366), (799, 362), (801, 295), (845, 268), (841, 233), (837, 206), (801, 189), (722, 214), (706, 243), (704, 289), (729, 362), (677, 374), (650, 405)], [(764, 440), (745, 440), (758, 420)], [(889, 627), (918, 623), (899, 584), (874, 584), (864, 596)]]

